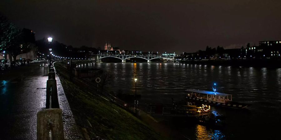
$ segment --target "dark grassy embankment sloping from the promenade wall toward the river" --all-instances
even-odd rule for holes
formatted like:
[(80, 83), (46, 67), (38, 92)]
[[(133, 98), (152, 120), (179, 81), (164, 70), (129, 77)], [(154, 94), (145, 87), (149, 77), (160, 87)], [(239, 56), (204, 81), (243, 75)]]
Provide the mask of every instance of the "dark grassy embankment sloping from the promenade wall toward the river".
[[(61, 69), (64, 64), (57, 62), (55, 67)], [(62, 70), (60, 73), (76, 124), (85, 139), (163, 139), (131, 113), (101, 98), (94, 91), (71, 82), (63, 76)]]

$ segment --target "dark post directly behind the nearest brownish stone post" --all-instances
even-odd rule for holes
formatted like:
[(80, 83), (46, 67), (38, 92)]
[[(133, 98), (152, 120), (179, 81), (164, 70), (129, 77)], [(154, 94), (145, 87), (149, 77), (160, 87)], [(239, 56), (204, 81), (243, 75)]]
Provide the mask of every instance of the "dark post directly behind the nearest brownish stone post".
[[(52, 91), (51, 91), (52, 87)], [(55, 79), (47, 80), (46, 88), (46, 109), (50, 108), (50, 96), (52, 95), (52, 108), (60, 108), (57, 96), (57, 81)]]

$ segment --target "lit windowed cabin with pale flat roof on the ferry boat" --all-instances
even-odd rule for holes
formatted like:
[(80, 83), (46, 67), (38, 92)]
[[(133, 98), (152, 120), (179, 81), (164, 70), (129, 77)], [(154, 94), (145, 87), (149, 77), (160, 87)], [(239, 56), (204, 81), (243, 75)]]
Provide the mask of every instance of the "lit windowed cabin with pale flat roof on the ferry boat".
[(219, 93), (214, 91), (202, 91), (195, 89), (187, 89), (187, 96), (199, 99), (206, 99), (219, 103), (226, 103), (232, 101), (231, 94)]

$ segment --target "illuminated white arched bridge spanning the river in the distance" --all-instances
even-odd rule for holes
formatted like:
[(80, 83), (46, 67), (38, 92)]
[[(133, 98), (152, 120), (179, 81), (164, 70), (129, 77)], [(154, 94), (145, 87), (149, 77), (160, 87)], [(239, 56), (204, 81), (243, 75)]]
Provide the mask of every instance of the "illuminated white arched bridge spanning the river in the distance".
[(96, 62), (100, 63), (102, 58), (107, 58), (107, 57), (113, 57), (113, 58), (118, 58), (122, 60), (122, 63), (126, 63), (126, 59), (129, 58), (142, 58), (147, 60), (147, 63), (150, 63), (152, 59), (156, 58), (164, 58), (164, 59), (169, 59), (174, 61), (175, 56), (161, 56), (161, 55), (108, 55), (108, 54), (97, 54), (96, 56)]

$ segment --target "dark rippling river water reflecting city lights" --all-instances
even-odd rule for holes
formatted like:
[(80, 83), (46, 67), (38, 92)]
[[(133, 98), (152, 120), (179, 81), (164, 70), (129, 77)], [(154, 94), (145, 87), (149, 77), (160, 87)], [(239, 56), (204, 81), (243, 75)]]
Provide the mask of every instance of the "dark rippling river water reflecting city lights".
[[(212, 108), (226, 117), (223, 128), (168, 123), (182, 139), (280, 139), (281, 69), (209, 66), (181, 63), (92, 63), (79, 67), (102, 68), (112, 74), (107, 89), (141, 94), (139, 104), (184, 100), (187, 88), (232, 94), (233, 101), (248, 103), (247, 110)], [(275, 128), (277, 127), (277, 128)], [(175, 137), (181, 139), (181, 136)]]

